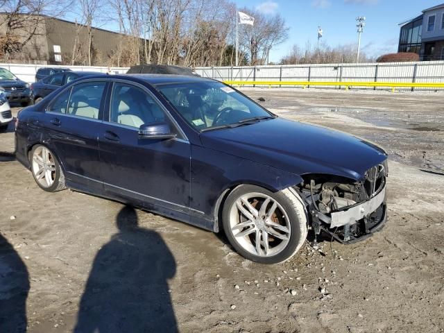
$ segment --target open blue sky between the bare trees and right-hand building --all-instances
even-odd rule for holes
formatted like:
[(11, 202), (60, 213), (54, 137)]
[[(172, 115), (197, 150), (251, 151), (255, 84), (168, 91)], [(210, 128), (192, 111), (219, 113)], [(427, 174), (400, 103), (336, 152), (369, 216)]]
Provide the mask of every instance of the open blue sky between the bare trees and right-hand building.
[(280, 13), (290, 28), (289, 40), (276, 46), (270, 61), (279, 61), (293, 44), (316, 45), (318, 25), (321, 41), (334, 46), (357, 43), (356, 17), (366, 17), (361, 50), (369, 56), (398, 51), (398, 23), (420, 15), (421, 10), (443, 1), (432, 0), (236, 0), (237, 6), (256, 8), (265, 14)]

